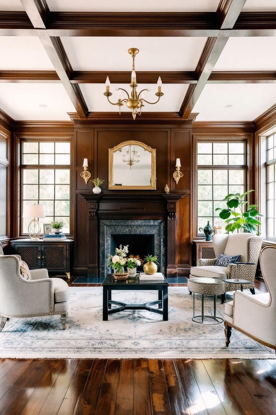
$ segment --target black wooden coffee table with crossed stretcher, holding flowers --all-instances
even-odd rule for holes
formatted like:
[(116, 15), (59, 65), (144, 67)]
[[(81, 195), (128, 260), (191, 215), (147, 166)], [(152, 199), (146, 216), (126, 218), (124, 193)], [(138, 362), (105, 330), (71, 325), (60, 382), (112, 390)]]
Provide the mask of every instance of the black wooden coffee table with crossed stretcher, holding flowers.
[[(140, 281), (139, 276), (133, 279), (117, 281), (112, 274), (107, 274), (103, 281), (103, 320), (108, 320), (108, 315), (124, 310), (148, 310), (163, 315), (163, 321), (168, 321), (168, 281), (166, 278), (159, 281)], [(143, 304), (126, 304), (121, 301), (111, 299), (112, 290), (156, 290), (158, 291), (158, 300), (149, 301)], [(111, 305), (118, 305), (111, 310)], [(158, 308), (151, 307), (158, 304)]]

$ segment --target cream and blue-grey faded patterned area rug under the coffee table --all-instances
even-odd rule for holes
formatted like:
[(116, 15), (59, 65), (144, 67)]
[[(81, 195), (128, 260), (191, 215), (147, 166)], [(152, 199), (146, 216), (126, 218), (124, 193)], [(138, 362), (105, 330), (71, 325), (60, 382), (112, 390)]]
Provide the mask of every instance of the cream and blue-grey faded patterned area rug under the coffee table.
[[(156, 291), (113, 291), (114, 300), (145, 303)], [(242, 358), (271, 359), (275, 352), (233, 330), (225, 346), (223, 323), (192, 321), (192, 295), (187, 287), (169, 288), (169, 320), (146, 310), (129, 310), (102, 320), (102, 288), (70, 287), (67, 328), (59, 316), (11, 319), (0, 333), (0, 358)], [(212, 297), (205, 313), (212, 312)], [(200, 314), (200, 296), (196, 299)], [(217, 303), (223, 317), (224, 306)]]

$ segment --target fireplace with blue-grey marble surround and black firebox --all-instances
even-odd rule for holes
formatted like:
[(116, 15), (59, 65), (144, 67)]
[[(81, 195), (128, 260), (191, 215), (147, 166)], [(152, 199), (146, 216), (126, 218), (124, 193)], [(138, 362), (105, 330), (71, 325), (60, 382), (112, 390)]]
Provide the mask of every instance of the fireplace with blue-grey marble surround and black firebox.
[[(166, 237), (164, 220), (100, 220), (100, 277), (105, 276), (108, 268), (108, 255), (115, 248), (129, 245), (129, 254), (158, 256), (158, 271), (166, 274)], [(137, 271), (143, 271), (140, 266)]]

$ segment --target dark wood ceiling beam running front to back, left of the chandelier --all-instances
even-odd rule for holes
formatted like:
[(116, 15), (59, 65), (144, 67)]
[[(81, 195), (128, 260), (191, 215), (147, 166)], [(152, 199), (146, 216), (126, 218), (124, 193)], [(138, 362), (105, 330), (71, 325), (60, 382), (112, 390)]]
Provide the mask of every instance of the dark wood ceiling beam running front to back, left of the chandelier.
[[(50, 15), (46, 0), (21, 0), (21, 2), (35, 29), (45, 29)], [(39, 39), (78, 115), (85, 118), (88, 108), (79, 85), (70, 82), (73, 69), (60, 38), (50, 37), (46, 30), (41, 30)]]

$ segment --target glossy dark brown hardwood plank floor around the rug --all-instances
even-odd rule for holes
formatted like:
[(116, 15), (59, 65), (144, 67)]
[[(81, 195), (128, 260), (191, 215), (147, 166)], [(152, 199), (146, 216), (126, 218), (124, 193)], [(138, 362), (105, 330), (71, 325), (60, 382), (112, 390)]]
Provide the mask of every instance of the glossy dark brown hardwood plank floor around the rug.
[(276, 415), (276, 360), (0, 359), (0, 414)]

